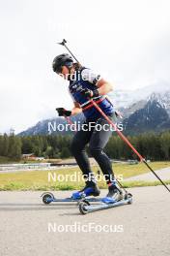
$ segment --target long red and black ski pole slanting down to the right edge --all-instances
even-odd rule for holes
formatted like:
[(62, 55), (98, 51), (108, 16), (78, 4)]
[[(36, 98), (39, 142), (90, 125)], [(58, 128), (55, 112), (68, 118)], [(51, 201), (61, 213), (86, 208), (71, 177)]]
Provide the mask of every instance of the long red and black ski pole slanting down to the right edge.
[(101, 109), (96, 104), (96, 102), (94, 102), (92, 99), (89, 99), (89, 100), (94, 105), (94, 107), (100, 112), (100, 114), (107, 120), (107, 122), (115, 129), (115, 131), (118, 133), (121, 139), (126, 144), (128, 144), (128, 146), (132, 149), (132, 151), (139, 157), (140, 161), (143, 162), (150, 169), (150, 171), (156, 176), (156, 178), (161, 182), (161, 184), (170, 192), (170, 189), (168, 188), (168, 186), (163, 182), (163, 180), (159, 176), (156, 175), (155, 171), (147, 163), (146, 159), (142, 157), (141, 154), (139, 154), (139, 152), (134, 148), (132, 144), (130, 144), (127, 137), (125, 137), (125, 135), (117, 128), (117, 125), (114, 122), (112, 122), (104, 112), (101, 111)]

